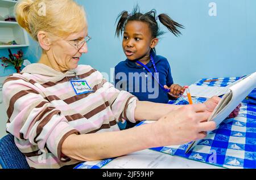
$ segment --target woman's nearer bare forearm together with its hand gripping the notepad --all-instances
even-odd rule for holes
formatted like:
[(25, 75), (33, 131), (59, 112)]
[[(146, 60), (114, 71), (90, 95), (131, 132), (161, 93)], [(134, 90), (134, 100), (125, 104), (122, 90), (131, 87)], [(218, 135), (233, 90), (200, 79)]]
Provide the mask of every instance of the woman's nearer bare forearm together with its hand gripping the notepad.
[(214, 122), (205, 122), (210, 114), (205, 104), (187, 105), (171, 111), (159, 121), (128, 130), (72, 134), (64, 140), (61, 152), (76, 160), (95, 161), (152, 147), (188, 143), (204, 138), (203, 131), (214, 130)]

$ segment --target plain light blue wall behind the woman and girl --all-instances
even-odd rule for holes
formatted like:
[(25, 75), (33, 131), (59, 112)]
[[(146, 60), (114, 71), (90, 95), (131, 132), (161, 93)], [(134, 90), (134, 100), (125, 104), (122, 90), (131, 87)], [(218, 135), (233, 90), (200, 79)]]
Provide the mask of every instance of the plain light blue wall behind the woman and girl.
[[(122, 10), (138, 3), (143, 12), (155, 8), (183, 24), (180, 37), (167, 32), (160, 38), (157, 53), (166, 57), (175, 83), (191, 84), (200, 78), (242, 76), (256, 71), (256, 1), (255, 0), (77, 0), (85, 7), (89, 52), (80, 64), (88, 64), (109, 74), (110, 68), (125, 59), (121, 38), (114, 36), (115, 19)], [(209, 16), (209, 3), (217, 5), (217, 16)], [(30, 40), (25, 49), (30, 61), (36, 62), (40, 50)], [(2, 50), (0, 50), (2, 55)], [(2, 69), (0, 68), (0, 76)]]

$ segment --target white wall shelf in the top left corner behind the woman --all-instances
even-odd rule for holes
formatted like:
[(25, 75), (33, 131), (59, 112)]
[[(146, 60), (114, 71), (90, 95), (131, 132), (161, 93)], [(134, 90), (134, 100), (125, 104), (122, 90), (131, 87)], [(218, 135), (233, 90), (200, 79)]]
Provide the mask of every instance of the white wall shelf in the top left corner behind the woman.
[[(18, 1), (0, 0), (0, 15), (13, 16), (14, 6)], [(15, 41), (18, 45), (0, 45), (0, 49), (6, 48), (21, 48), (29, 46), (27, 32), (22, 29), (17, 22), (6, 22), (0, 20), (0, 41), (11, 42)]]

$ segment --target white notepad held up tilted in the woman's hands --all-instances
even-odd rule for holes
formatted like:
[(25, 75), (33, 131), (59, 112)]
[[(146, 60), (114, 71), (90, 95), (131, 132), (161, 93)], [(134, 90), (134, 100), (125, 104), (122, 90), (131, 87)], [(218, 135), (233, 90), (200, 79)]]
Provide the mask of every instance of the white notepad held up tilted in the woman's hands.
[[(216, 122), (216, 127), (220, 125), (222, 121), (245, 99), (247, 95), (256, 87), (256, 72), (247, 75), (237, 82), (234, 82), (228, 86), (229, 91), (221, 98), (218, 105), (213, 110), (213, 113), (208, 118), (208, 121)], [(207, 132), (209, 135), (209, 132)], [(191, 151), (200, 140), (189, 144), (185, 153)]]

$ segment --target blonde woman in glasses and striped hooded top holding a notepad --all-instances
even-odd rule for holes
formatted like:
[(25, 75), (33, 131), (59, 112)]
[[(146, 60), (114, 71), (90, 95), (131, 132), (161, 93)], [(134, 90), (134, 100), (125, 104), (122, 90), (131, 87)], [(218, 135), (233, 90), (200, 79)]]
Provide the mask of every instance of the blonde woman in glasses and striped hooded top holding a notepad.
[[(38, 63), (9, 76), (3, 85), (7, 132), (15, 136), (31, 168), (75, 166), (183, 144), (216, 128), (205, 120), (218, 97), (185, 106), (142, 102), (115, 89), (89, 65), (78, 65), (90, 37), (85, 11), (76, 2), (24, 0), (15, 12), (19, 25), (42, 48)], [(117, 125), (143, 119), (158, 121), (123, 131)]]

